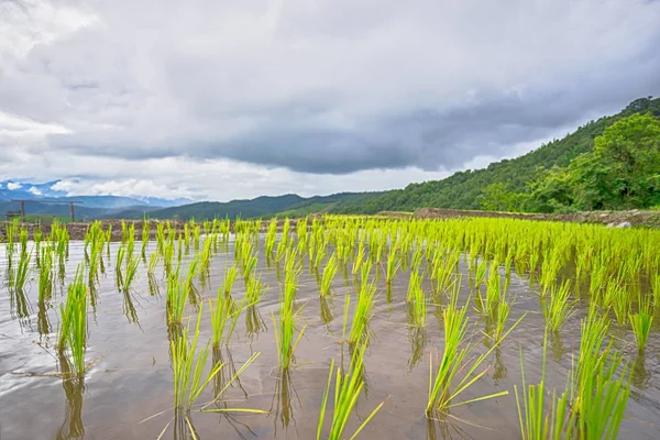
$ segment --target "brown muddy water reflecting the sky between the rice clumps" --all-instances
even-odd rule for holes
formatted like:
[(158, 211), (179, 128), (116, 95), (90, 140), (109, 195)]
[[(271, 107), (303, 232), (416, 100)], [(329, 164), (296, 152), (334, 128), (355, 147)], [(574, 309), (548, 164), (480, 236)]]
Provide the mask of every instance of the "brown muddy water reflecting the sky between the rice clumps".
[[(152, 245), (153, 248), (153, 245)], [(116, 248), (113, 248), (114, 251)], [(138, 246), (139, 249), (139, 246)], [(215, 297), (222, 284), (224, 267), (231, 263), (233, 245), (213, 256), (210, 287), (201, 289), (205, 298)], [(82, 257), (82, 244), (72, 243), (67, 275), (75, 273)], [(113, 261), (114, 256), (111, 261)], [(169, 342), (165, 324), (165, 285), (158, 279), (163, 296), (152, 295), (154, 286), (142, 268), (127, 297), (117, 292), (111, 264), (98, 287), (96, 312), (90, 308), (89, 349), (87, 360), (97, 360), (87, 372), (84, 384), (63, 381), (57, 372), (53, 343), (57, 330), (57, 293), (50, 305), (40, 305), (36, 279), (25, 289), (25, 297), (10, 295), (6, 287), (3, 246), (0, 248), (0, 439), (148, 439), (157, 438), (173, 418), (173, 380)], [(462, 264), (462, 263), (461, 263)], [(466, 267), (461, 266), (465, 272)], [(261, 355), (241, 376), (240, 384), (229, 389), (222, 407), (246, 407), (270, 410), (268, 415), (218, 415), (193, 413), (191, 420), (199, 438), (221, 439), (312, 439), (316, 438), (321, 395), (328, 380), (330, 361), (348, 360), (342, 332), (344, 295), (353, 294), (351, 280), (342, 272), (333, 283), (333, 296), (322, 301), (315, 275), (307, 271), (300, 279), (298, 304), (305, 305), (305, 337), (296, 352), (297, 367), (283, 373), (277, 369), (277, 353), (272, 316), (277, 314), (278, 284), (275, 267), (266, 267), (263, 255), (258, 271), (270, 289), (258, 307), (244, 314), (228, 349), (216, 352), (228, 369), (239, 369), (254, 352)], [(158, 274), (161, 271), (157, 272)], [(375, 270), (373, 273), (375, 277)], [(33, 276), (34, 278), (34, 276)], [(158, 277), (160, 278), (160, 277)], [(351, 278), (349, 276), (349, 278)], [(471, 294), (463, 277), (462, 299)], [(352, 418), (359, 420), (384, 399), (384, 408), (364, 429), (362, 439), (515, 439), (519, 438), (514, 385), (520, 385), (519, 350), (525, 356), (528, 382), (541, 373), (543, 317), (537, 288), (526, 277), (512, 276), (509, 292), (516, 304), (509, 324), (527, 312), (491, 359), (487, 374), (470, 388), (462, 399), (508, 391), (497, 399), (460, 406), (444, 420), (428, 420), (425, 407), (429, 381), (429, 354), (442, 351), (441, 306), (429, 307), (425, 331), (408, 326), (406, 290), (408, 275), (400, 272), (392, 295), (384, 279), (378, 280), (380, 295), (372, 320), (373, 338), (365, 356), (366, 389)], [(233, 295), (243, 296), (242, 280)], [(429, 287), (429, 286), (426, 286)], [(202, 337), (210, 338), (210, 321), (205, 319)], [(194, 312), (193, 309), (189, 310)], [(470, 311), (473, 312), (472, 309)], [(552, 338), (548, 351), (547, 382), (563, 388), (571, 366), (571, 352), (579, 343), (580, 319), (586, 304), (565, 323), (559, 338)], [(50, 330), (46, 320), (48, 319)], [(474, 333), (484, 322), (472, 315)], [(652, 332), (646, 356), (636, 355), (630, 332), (614, 328), (616, 344), (634, 363), (632, 396), (622, 439), (660, 438), (660, 338)], [(487, 350), (480, 345), (480, 350)], [(213, 398), (212, 387), (201, 402)], [(187, 431), (169, 425), (164, 438), (187, 438)], [(351, 429), (349, 429), (351, 431)]]

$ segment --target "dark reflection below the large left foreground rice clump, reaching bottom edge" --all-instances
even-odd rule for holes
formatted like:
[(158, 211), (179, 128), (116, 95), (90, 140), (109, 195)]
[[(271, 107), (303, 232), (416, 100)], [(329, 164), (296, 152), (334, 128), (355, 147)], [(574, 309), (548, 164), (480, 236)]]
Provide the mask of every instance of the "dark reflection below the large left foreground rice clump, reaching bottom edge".
[(82, 392), (85, 391), (85, 376), (72, 374), (68, 360), (59, 355), (59, 369), (63, 373), (62, 387), (66, 395), (64, 422), (57, 430), (57, 440), (81, 439), (85, 436), (82, 425)]

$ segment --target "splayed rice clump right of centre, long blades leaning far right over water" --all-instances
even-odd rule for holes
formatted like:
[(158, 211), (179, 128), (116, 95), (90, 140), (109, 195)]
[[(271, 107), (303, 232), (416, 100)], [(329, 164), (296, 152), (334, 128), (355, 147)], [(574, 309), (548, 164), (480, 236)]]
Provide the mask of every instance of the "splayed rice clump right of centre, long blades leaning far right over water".
[(435, 372), (433, 369), (433, 356), (431, 354), (429, 369), (429, 396), (427, 405), (427, 415), (433, 413), (446, 414), (450, 408), (465, 405), (470, 403), (486, 400), (495, 397), (506, 396), (508, 392), (499, 392), (491, 395), (476, 397), (470, 400), (457, 403), (454, 402), (461, 393), (471, 387), (476, 381), (479, 381), (487, 369), (484, 369), (480, 373), (475, 373), (476, 370), (484, 363), (487, 356), (491, 354), (499, 342), (506, 338), (506, 336), (520, 322), (522, 317), (506, 332), (504, 336), (493, 344), (493, 346), (475, 358), (470, 358), (470, 354), (476, 346), (476, 344), (469, 344), (466, 342), (468, 337), (468, 307), (457, 307), (457, 299), (452, 299), (452, 302), (444, 309), (444, 352), (442, 360), (438, 364), (438, 369)]

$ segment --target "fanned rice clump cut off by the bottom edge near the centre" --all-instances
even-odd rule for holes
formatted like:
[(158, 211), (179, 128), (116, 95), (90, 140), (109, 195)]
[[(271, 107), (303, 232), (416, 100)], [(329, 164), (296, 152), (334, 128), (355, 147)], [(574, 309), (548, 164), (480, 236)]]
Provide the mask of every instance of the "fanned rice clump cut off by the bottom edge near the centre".
[[(362, 376), (356, 372), (362, 370), (362, 365), (364, 362), (364, 346), (362, 349), (355, 350), (356, 354), (354, 354), (354, 360), (351, 362), (353, 367), (346, 373), (342, 373), (341, 369), (337, 369), (337, 373), (334, 370), (334, 360), (332, 360), (330, 364), (330, 374), (328, 375), (328, 384), (326, 385), (326, 389), (323, 391), (323, 397), (321, 403), (321, 411), (319, 415), (319, 424), (317, 428), (317, 440), (328, 439), (328, 440), (341, 440), (344, 437), (344, 431), (346, 430), (346, 425), (355, 408), (355, 404), (358, 403), (358, 398), (364, 388), (364, 381)], [(323, 436), (323, 425), (326, 419), (326, 411), (328, 408), (328, 397), (331, 393), (331, 384), (332, 376), (336, 373), (334, 380), (334, 405), (332, 407), (332, 419), (330, 422), (330, 430), (327, 436)], [(385, 405), (385, 400), (378, 404), (370, 415), (362, 421), (362, 424), (358, 427), (355, 432), (350, 437), (350, 439), (355, 439), (358, 435), (364, 429), (364, 427), (375, 417), (375, 415), (383, 408)]]

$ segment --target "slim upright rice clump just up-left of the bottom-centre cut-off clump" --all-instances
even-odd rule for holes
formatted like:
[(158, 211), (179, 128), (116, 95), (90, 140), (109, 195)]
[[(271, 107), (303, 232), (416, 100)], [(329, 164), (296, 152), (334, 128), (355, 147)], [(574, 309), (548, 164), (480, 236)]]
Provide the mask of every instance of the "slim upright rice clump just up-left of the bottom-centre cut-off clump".
[[(301, 308), (295, 310), (294, 304), (301, 271), (299, 262), (296, 261), (296, 255), (290, 252), (286, 260), (284, 287), (279, 298), (279, 316), (277, 320), (273, 314), (273, 324), (276, 329), (275, 342), (280, 369), (288, 369), (292, 362), (294, 362), (294, 353), (307, 327), (299, 328), (297, 324), (298, 314)], [(296, 332), (298, 333), (297, 337)]]

